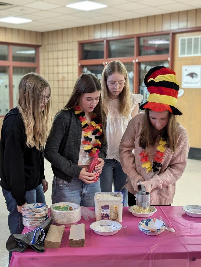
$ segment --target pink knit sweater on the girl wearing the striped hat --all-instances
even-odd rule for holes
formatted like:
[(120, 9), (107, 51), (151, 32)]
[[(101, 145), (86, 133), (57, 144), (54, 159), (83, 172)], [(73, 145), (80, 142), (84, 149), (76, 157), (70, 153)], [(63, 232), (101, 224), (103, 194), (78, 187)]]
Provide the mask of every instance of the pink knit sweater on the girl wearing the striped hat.
[[(119, 158), (123, 171), (128, 174), (127, 179), (142, 176), (145, 181), (150, 180), (152, 190), (150, 193), (150, 205), (169, 205), (173, 202), (175, 195), (176, 181), (181, 177), (186, 167), (187, 156), (189, 151), (189, 141), (186, 129), (179, 124), (177, 150), (173, 154), (170, 148), (166, 147), (164, 152), (164, 160), (162, 167), (158, 172), (149, 171), (146, 173), (146, 168), (142, 167), (139, 153), (142, 148), (139, 147), (140, 132), (143, 127), (144, 112), (137, 114), (130, 120), (128, 127), (121, 139), (119, 146)], [(153, 163), (153, 158), (156, 152), (158, 142), (149, 147), (148, 159)], [(135, 155), (131, 152), (135, 149)], [(130, 179), (129, 178), (129, 179)], [(131, 183), (128, 184), (127, 189), (130, 193), (136, 194)]]

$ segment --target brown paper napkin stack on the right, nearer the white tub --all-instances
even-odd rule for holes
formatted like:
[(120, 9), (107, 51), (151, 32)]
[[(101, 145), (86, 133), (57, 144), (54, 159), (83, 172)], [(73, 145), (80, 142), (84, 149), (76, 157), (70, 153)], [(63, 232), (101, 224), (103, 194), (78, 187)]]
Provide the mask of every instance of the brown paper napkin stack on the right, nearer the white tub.
[(85, 245), (85, 224), (80, 223), (70, 226), (69, 246), (84, 247)]

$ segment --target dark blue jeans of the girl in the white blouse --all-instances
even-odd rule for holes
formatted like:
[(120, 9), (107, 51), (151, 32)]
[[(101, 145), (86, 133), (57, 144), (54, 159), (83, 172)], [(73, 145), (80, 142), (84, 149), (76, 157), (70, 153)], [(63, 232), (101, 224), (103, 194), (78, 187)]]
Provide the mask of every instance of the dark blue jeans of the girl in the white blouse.
[[(112, 192), (112, 184), (114, 181), (114, 190), (119, 191), (126, 183), (127, 174), (122, 170), (121, 163), (118, 160), (105, 159), (102, 173), (100, 175), (101, 192)], [(128, 191), (124, 187), (124, 206), (128, 204)]]

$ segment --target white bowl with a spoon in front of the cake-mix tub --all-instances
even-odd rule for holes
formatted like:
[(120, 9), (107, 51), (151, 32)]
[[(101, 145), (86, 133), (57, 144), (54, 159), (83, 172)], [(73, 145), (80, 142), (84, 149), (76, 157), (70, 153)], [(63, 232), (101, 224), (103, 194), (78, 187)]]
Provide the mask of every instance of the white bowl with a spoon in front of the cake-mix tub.
[[(100, 226), (105, 225), (105, 226)], [(111, 236), (118, 232), (117, 228), (122, 227), (121, 223), (110, 221), (110, 220), (101, 220), (92, 222), (90, 228), (94, 230), (94, 233), (100, 236)]]

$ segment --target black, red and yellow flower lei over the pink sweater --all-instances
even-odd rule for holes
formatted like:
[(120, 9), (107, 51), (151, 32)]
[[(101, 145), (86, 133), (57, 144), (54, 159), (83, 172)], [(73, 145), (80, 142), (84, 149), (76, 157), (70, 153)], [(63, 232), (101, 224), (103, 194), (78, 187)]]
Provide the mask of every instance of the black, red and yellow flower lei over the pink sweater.
[(167, 142), (163, 141), (163, 138), (161, 137), (159, 144), (157, 146), (157, 150), (154, 156), (154, 162), (151, 165), (151, 162), (148, 159), (148, 153), (145, 155), (145, 152), (143, 150), (143, 152), (141, 152), (139, 154), (139, 156), (141, 157), (140, 161), (143, 163), (142, 167), (146, 168), (146, 172), (148, 173), (148, 171), (159, 171), (159, 168), (162, 167), (162, 161), (164, 160), (163, 156), (164, 156), (164, 152), (165, 152), (165, 147), (164, 145), (166, 145)]

